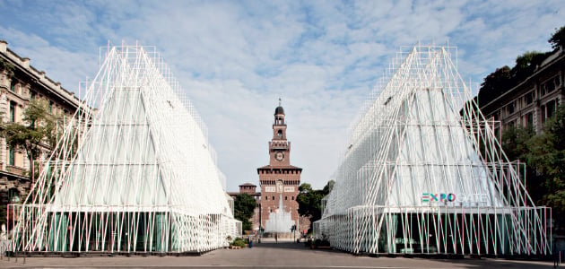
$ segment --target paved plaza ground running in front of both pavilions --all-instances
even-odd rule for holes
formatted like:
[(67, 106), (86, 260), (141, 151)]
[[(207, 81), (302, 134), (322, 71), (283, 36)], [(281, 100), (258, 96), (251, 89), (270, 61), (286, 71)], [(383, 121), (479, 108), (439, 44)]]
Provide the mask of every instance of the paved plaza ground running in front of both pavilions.
[(552, 268), (544, 261), (505, 259), (422, 259), (352, 256), (337, 250), (312, 250), (304, 244), (267, 240), (253, 248), (218, 249), (202, 256), (22, 257), (0, 260), (0, 268), (188, 267), (188, 268)]

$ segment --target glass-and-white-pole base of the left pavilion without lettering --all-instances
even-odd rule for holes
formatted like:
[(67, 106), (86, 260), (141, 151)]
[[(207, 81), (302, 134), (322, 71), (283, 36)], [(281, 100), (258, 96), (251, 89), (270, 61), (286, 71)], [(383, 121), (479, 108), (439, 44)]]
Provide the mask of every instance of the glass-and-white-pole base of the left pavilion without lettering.
[[(22, 210), (25, 213), (21, 221), (33, 222), (37, 221), (36, 218), (47, 216), (47, 225), (20, 234), (21, 239), (37, 246), (30, 249), (31, 252), (202, 252), (209, 250), (206, 245), (213, 249), (213, 246), (224, 244), (222, 234), (226, 228), (222, 226), (231, 223), (221, 214), (191, 217), (170, 212), (118, 210), (45, 213), (40, 207), (30, 206)], [(206, 233), (203, 237), (202, 233), (191, 233), (190, 228), (205, 230)]]

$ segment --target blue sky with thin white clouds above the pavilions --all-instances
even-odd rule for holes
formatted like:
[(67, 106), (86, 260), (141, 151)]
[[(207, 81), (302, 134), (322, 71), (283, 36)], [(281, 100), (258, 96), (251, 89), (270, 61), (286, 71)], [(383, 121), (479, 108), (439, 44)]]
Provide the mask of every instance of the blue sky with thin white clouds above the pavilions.
[(230, 191), (258, 185), (281, 97), (291, 163), (321, 188), (399, 47), (457, 46), (476, 91), (516, 56), (550, 50), (564, 18), (562, 0), (0, 0), (0, 39), (69, 91), (95, 76), (101, 46), (156, 46), (204, 118)]

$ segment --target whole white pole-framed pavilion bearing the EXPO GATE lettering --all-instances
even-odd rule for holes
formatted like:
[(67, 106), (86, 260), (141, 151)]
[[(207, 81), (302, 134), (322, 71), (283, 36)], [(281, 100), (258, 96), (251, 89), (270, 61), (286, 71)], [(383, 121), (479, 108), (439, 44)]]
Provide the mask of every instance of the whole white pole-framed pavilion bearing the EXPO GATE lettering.
[(456, 48), (402, 49), (352, 125), (317, 237), (353, 253), (550, 254), (551, 208), (502, 152)]

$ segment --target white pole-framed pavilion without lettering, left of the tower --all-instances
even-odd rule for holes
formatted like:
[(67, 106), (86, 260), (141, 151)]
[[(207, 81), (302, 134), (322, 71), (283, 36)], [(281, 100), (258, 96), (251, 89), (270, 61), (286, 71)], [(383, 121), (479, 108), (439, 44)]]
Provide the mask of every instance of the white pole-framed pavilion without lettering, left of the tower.
[(178, 97), (180, 86), (155, 48), (104, 52), (99, 74), (82, 84), (82, 106), (15, 209), (13, 249), (225, 247), (237, 235), (237, 221), (201, 117)]

